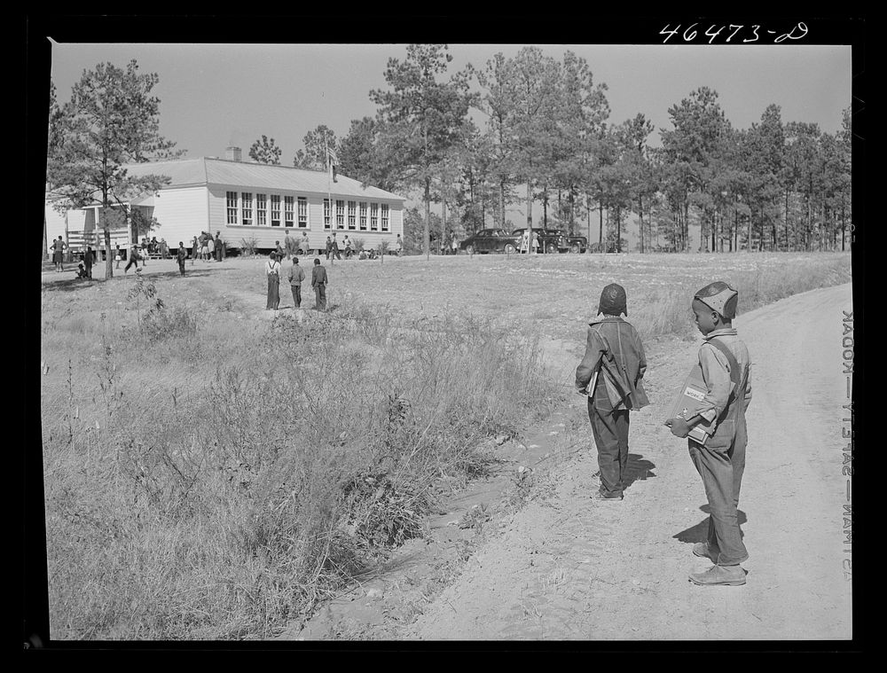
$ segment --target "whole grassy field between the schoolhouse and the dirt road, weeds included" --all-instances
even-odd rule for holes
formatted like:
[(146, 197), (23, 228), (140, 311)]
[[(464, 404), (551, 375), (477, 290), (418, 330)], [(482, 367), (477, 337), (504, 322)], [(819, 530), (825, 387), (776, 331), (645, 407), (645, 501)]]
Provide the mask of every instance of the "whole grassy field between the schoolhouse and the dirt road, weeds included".
[(851, 278), (849, 254), (386, 257), (275, 314), (263, 263), (43, 274), (52, 638), (271, 636), (561, 404), (543, 347), (581, 344), (610, 282), (655, 343), (712, 280), (742, 312)]

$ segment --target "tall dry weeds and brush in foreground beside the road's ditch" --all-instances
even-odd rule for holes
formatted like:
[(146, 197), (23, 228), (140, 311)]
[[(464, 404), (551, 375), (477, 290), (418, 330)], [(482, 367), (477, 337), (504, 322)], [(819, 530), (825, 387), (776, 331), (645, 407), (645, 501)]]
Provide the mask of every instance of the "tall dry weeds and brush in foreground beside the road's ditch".
[[(184, 309), (154, 306), (141, 325), (150, 342), (186, 339), (177, 352), (212, 348)], [(108, 330), (93, 393), (106, 410), (47, 417), (53, 638), (271, 637), (419, 536), (442, 478), (483, 473), (483, 437), (555, 395), (516, 356), (525, 340), (472, 317), (346, 303), (252, 335), (242, 362), (181, 395), (118, 371), (137, 344)], [(89, 380), (69, 398), (89, 399)]]

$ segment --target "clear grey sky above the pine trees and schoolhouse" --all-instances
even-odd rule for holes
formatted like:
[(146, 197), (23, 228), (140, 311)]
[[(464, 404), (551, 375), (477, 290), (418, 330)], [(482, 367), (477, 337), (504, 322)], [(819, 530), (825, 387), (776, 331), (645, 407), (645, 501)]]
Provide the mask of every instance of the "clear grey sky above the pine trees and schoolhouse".
[[(449, 73), (468, 63), (483, 67), (496, 53), (513, 57), (525, 44), (451, 43)], [(782, 121), (815, 122), (841, 129), (851, 105), (850, 45), (780, 44), (537, 44), (562, 60), (565, 51), (584, 58), (597, 83), (608, 87), (608, 121), (617, 124), (644, 113), (656, 132), (671, 128), (668, 109), (702, 86), (718, 92), (718, 103), (735, 128), (760, 121), (770, 104)], [(229, 145), (243, 156), (262, 135), (291, 165), (302, 138), (319, 124), (338, 137), (352, 120), (373, 116), (370, 90), (387, 90), (390, 58), (404, 59), (406, 44), (247, 43), (53, 43), (51, 76), (59, 102), (84, 70), (100, 62), (124, 67), (136, 59), (140, 72), (156, 73), (161, 135), (186, 156), (221, 156)], [(483, 124), (478, 114), (475, 120)]]

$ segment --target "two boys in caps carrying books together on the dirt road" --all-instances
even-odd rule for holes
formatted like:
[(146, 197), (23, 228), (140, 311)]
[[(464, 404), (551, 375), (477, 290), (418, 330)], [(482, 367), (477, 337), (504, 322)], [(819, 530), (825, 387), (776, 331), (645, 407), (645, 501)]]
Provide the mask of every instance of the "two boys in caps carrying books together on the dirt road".
[[(671, 434), (687, 438), (703, 425), (702, 441), (687, 439), (690, 459), (703, 480), (710, 506), (708, 532), (693, 553), (712, 566), (689, 575), (700, 585), (736, 586), (746, 582), (742, 562), (749, 554), (742, 542), (737, 508), (745, 469), (745, 412), (751, 401), (749, 350), (733, 326), (739, 294), (722, 281), (695, 293), (691, 308), (703, 334), (699, 365), (706, 393), (689, 418), (665, 423)], [(628, 464), (629, 412), (646, 406), (643, 377), (647, 359), (640, 336), (624, 317), (627, 298), (622, 286), (611, 284), (600, 293), (598, 315), (589, 324), (585, 356), (576, 370), (577, 392), (588, 397), (588, 418), (598, 451), (600, 489), (596, 500), (617, 502), (624, 497)]]

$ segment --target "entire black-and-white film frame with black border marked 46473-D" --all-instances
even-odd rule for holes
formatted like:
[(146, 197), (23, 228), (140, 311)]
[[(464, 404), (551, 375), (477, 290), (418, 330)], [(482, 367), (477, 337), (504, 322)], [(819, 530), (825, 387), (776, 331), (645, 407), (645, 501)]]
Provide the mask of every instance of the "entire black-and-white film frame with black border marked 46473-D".
[(854, 647), (864, 19), (172, 19), (27, 31), (25, 649)]

